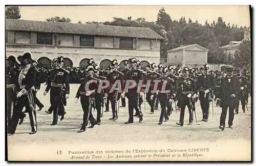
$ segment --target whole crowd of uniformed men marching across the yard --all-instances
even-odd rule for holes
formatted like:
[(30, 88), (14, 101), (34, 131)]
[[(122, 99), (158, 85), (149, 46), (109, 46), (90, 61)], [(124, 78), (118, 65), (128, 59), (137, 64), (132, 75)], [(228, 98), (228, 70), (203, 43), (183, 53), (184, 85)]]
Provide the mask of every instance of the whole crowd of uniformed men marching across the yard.
[[(201, 68), (179, 66), (156, 65), (155, 63), (144, 66), (135, 58), (124, 62), (124, 68), (120, 69), (117, 60), (112, 61), (108, 68), (99, 70), (98, 65), (93, 59), (88, 61), (88, 66), (82, 70), (82, 74), (77, 74), (80, 86), (75, 90), (75, 101), (80, 98), (83, 110), (83, 122), (78, 132), (86, 131), (95, 125), (100, 125), (104, 112), (109, 112), (111, 103), (112, 118), (109, 120), (118, 120), (118, 101), (121, 99), (121, 106), (125, 107), (125, 98), (128, 99), (129, 119), (125, 124), (134, 122), (134, 117), (143, 121), (141, 107), (147, 102), (151, 107), (151, 114), (158, 109), (160, 103), (161, 114), (159, 125), (168, 121), (175, 109), (180, 110), (180, 119), (177, 125), (183, 126), (185, 107), (189, 110), (189, 123), (193, 124), (194, 116), (196, 118), (196, 102), (200, 102), (203, 117), (202, 121), (207, 122), (209, 117), (209, 107), (212, 100), (216, 100), (216, 105), (222, 107), (220, 117), (221, 130), (225, 128), (227, 108), (229, 108), (228, 127), (232, 128), (234, 114), (239, 113), (239, 103), (242, 103), (242, 110), (245, 113), (250, 94), (250, 75), (245, 69), (243, 73), (232, 67), (224, 67), (222, 71), (209, 71), (207, 64)], [(41, 110), (44, 105), (40, 103), (36, 94), (40, 89), (41, 83), (45, 83), (46, 89), (44, 95), (50, 91), (50, 104), (46, 113), (53, 114), (53, 122), (56, 125), (58, 117), (60, 121), (65, 119), (65, 106), (69, 98), (70, 76), (74, 76), (73, 68), (69, 70), (63, 68), (63, 57), (52, 60), (52, 67), (40, 67), (30, 52), (22, 56), (13, 55), (7, 58), (7, 110), (11, 109), (13, 104), (13, 115), (8, 120), (8, 135), (15, 133), (17, 124), (22, 124), (26, 113), (29, 114), (31, 132), (37, 132), (36, 125), (36, 105)], [(76, 72), (76, 71), (75, 71)], [(79, 72), (78, 72), (79, 73)], [(73, 77), (74, 78), (74, 77)], [(74, 80), (74, 79), (73, 79)], [(108, 80), (110, 85), (103, 89), (100, 85), (102, 80)], [(115, 84), (119, 80), (121, 84)], [(126, 81), (135, 80), (136, 85), (133, 88), (125, 89)], [(139, 82), (143, 80), (144, 84), (150, 81), (149, 91), (140, 86)], [(158, 82), (157, 86), (155, 86)], [(89, 85), (89, 89), (86, 88)], [(130, 85), (129, 85), (130, 86)], [(163, 89), (163, 87), (165, 87)], [(114, 90), (113, 90), (114, 88)], [(156, 88), (156, 89), (155, 89)], [(121, 89), (122, 93), (120, 93)], [(166, 90), (168, 93), (166, 93)], [(174, 103), (174, 104), (173, 104)], [(103, 110), (105, 106), (105, 110)], [(25, 112), (23, 112), (23, 108)], [(92, 109), (97, 110), (97, 118), (92, 114)], [(135, 109), (135, 114), (134, 114)], [(196, 119), (197, 120), (197, 119)]]

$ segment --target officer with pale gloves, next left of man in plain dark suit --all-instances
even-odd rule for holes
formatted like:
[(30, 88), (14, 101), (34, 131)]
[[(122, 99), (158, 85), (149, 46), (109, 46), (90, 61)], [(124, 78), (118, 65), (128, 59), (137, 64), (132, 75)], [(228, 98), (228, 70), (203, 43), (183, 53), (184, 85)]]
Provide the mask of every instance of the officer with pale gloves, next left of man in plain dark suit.
[(215, 88), (214, 77), (207, 74), (207, 64), (204, 65), (203, 73), (198, 77), (199, 100), (203, 112), (202, 121), (208, 121), (208, 112), (210, 107), (211, 93)]

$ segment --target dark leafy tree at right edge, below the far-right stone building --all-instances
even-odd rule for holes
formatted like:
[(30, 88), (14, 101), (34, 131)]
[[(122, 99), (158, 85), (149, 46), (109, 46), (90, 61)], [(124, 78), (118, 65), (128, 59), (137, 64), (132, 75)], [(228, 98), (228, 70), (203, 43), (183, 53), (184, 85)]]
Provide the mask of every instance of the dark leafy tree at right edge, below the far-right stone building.
[(234, 53), (232, 64), (239, 68), (251, 68), (251, 42), (249, 40), (240, 44), (239, 49)]

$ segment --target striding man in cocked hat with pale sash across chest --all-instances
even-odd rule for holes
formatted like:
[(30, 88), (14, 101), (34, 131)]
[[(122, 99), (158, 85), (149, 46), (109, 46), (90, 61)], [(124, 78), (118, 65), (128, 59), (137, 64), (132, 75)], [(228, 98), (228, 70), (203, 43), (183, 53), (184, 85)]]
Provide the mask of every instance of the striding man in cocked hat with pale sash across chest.
[(21, 124), (26, 114), (22, 113), (24, 107), (28, 110), (29, 120), (31, 125), (30, 134), (34, 134), (37, 131), (36, 125), (36, 111), (35, 111), (35, 91), (34, 86), (36, 85), (36, 71), (31, 63), (34, 60), (31, 57), (30, 52), (26, 52), (23, 56), (18, 56), (18, 61), (22, 64), (22, 70), (17, 73), (18, 78), (16, 79), (17, 89), (17, 100), (14, 106), (13, 115), (8, 125), (8, 135), (13, 135), (16, 131), (18, 120), (20, 119)]

